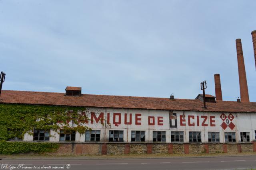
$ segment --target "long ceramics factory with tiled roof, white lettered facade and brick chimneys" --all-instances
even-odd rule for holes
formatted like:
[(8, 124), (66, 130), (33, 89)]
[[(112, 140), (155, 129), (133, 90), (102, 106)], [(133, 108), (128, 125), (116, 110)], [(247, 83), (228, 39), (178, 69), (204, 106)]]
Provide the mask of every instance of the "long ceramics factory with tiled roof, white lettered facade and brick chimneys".
[[(256, 31), (252, 32), (256, 61)], [(256, 102), (250, 102), (241, 39), (236, 39), (240, 96), (223, 101), (220, 74), (214, 75), (215, 96), (194, 100), (2, 90), (1, 104), (81, 106), (88, 113), (85, 133), (54, 130), (26, 133), (23, 141), (79, 143), (248, 143), (256, 140)], [(206, 107), (204, 107), (204, 102)], [(69, 122), (70, 127), (76, 127)]]

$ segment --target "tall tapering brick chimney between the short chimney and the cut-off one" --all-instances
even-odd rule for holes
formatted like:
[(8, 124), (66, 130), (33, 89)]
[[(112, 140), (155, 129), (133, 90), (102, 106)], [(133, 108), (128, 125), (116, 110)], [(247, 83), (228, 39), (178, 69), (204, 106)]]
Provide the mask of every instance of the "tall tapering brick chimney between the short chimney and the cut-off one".
[(236, 54), (237, 54), (237, 63), (238, 63), (241, 102), (250, 102), (241, 39), (236, 39)]

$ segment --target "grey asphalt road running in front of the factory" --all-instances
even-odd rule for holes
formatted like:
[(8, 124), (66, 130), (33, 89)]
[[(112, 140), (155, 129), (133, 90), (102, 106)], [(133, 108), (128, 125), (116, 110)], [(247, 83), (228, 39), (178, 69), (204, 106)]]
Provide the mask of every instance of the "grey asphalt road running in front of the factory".
[[(19, 164), (22, 164), (20, 168)], [(110, 160), (0, 160), (0, 169), (6, 170), (240, 170), (250, 168), (256, 168), (256, 156)]]

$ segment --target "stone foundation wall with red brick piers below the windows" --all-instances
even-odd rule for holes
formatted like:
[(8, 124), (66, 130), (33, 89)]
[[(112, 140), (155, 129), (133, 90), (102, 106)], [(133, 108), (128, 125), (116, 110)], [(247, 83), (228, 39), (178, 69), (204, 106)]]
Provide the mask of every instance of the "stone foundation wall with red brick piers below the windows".
[(52, 155), (256, 152), (255, 143), (59, 143)]

